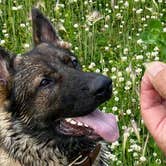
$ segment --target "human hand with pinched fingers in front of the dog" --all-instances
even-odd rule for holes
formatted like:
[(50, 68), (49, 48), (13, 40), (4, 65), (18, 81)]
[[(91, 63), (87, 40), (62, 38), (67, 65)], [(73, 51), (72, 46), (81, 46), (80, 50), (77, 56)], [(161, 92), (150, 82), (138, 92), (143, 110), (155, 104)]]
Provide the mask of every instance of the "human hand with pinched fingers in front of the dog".
[(141, 114), (145, 125), (166, 154), (166, 64), (146, 65), (141, 82)]

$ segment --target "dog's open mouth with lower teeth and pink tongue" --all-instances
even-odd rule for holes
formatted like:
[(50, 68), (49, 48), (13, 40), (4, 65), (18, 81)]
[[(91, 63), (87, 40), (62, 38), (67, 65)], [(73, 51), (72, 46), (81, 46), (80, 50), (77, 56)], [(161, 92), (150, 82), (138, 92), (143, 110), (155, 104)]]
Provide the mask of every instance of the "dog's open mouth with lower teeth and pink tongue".
[(86, 137), (94, 141), (114, 142), (119, 137), (115, 116), (99, 109), (84, 116), (61, 119), (56, 122), (55, 129), (65, 136)]

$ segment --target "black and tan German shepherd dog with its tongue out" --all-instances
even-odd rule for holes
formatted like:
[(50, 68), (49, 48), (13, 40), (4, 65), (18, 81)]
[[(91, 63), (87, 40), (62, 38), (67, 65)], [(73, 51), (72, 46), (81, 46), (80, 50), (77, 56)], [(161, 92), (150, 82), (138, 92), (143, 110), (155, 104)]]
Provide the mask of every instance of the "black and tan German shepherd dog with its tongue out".
[(112, 81), (83, 72), (49, 20), (32, 9), (35, 47), (0, 48), (0, 165), (102, 166), (118, 138), (115, 116), (97, 107)]

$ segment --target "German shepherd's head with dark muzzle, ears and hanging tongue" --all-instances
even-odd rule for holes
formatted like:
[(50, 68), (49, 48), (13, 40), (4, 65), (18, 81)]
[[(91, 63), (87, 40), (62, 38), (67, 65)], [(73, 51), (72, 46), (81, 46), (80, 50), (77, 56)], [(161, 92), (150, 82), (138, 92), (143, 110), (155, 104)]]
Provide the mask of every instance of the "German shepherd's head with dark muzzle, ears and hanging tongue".
[(13, 119), (26, 133), (41, 136), (43, 132), (57, 142), (63, 140), (63, 146), (115, 141), (115, 117), (97, 109), (111, 97), (111, 79), (83, 72), (75, 55), (37, 9), (32, 10), (32, 21), (35, 47), (30, 52), (11, 57), (0, 51), (0, 78), (9, 92), (8, 111)]

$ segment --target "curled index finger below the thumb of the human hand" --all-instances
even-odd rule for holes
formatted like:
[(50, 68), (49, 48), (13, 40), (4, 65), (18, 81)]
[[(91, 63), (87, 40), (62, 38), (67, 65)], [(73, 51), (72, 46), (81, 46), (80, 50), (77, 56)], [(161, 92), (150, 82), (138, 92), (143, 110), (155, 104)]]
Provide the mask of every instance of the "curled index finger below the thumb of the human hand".
[(140, 102), (141, 114), (148, 130), (159, 147), (166, 153), (166, 138), (164, 136), (166, 133), (166, 107), (162, 97), (154, 89), (147, 72), (145, 72), (141, 82)]

